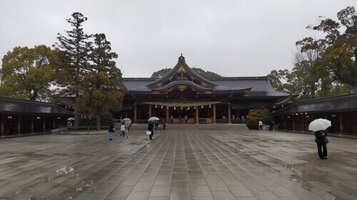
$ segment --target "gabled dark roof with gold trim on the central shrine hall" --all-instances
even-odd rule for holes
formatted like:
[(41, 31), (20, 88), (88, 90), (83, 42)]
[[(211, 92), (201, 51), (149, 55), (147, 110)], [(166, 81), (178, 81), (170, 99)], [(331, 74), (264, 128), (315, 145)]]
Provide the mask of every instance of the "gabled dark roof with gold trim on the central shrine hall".
[[(167, 93), (173, 88), (188, 86), (198, 93), (238, 93), (246, 97), (286, 97), (279, 93), (264, 77), (203, 78), (193, 71), (183, 56), (175, 67), (159, 79), (123, 78), (129, 93)], [(181, 88), (182, 88), (181, 87)]]

